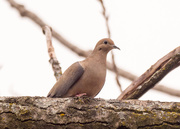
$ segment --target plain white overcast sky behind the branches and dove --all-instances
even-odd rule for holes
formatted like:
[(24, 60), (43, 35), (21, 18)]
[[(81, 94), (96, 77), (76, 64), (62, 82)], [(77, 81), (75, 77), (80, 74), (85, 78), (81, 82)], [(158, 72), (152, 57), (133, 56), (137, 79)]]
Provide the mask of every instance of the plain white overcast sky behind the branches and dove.
[[(64, 38), (84, 50), (92, 50), (107, 37), (102, 7), (97, 0), (16, 0), (36, 13)], [(179, 0), (104, 0), (117, 66), (137, 76), (158, 59), (180, 46)], [(0, 96), (46, 96), (56, 79), (48, 60), (45, 36), (39, 26), (22, 18), (6, 0), (0, 1)], [(53, 39), (63, 72), (83, 60)], [(111, 61), (110, 53), (108, 60)], [(160, 83), (180, 90), (180, 68)], [(131, 82), (120, 77), (122, 88)], [(97, 98), (116, 99), (120, 94), (114, 73), (107, 70), (106, 82)], [(141, 100), (180, 101), (150, 90)]]

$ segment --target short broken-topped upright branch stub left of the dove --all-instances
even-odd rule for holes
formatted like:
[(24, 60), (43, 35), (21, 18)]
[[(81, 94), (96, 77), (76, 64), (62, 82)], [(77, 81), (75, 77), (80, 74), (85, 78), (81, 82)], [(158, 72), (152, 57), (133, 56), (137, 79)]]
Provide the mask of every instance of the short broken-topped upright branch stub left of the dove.
[(56, 80), (60, 78), (62, 75), (62, 70), (61, 67), (59, 66), (59, 62), (56, 58), (56, 54), (54, 52), (54, 47), (52, 45), (52, 29), (49, 26), (44, 26), (43, 27), (43, 33), (46, 36), (46, 41), (47, 41), (47, 48), (48, 48), (48, 54), (49, 54), (49, 62), (52, 65), (52, 69), (54, 71), (54, 76), (56, 77)]

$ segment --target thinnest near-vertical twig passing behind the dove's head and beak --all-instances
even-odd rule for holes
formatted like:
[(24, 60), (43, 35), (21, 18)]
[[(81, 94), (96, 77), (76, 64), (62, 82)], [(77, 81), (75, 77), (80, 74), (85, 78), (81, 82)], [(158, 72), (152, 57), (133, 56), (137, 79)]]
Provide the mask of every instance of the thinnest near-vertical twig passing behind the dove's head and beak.
[[(99, 2), (101, 3), (102, 9), (103, 9), (102, 15), (103, 15), (103, 17), (105, 19), (105, 22), (106, 22), (108, 38), (111, 38), (111, 31), (110, 31), (110, 28), (109, 28), (109, 17), (106, 14), (106, 8), (104, 6), (103, 0), (99, 0)], [(117, 66), (116, 66), (116, 63), (115, 63), (115, 60), (114, 60), (114, 53), (113, 53), (113, 51), (111, 51), (111, 58), (112, 58), (113, 69), (114, 69), (115, 74), (116, 74), (115, 79), (116, 79), (117, 85), (119, 86), (120, 91), (122, 92), (122, 87), (121, 87), (121, 83), (119, 82), (119, 74), (118, 74)]]

